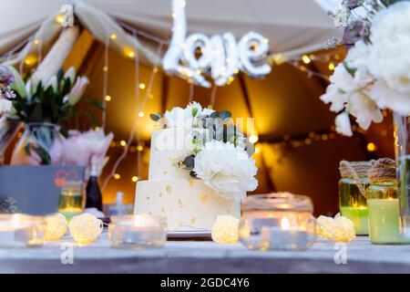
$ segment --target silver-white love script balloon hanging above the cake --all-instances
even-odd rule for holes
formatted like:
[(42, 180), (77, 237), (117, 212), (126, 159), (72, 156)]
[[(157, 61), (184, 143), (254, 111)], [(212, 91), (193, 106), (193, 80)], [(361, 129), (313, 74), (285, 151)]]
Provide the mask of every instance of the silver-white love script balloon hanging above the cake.
[(224, 86), (240, 70), (252, 78), (271, 72), (266, 62), (269, 40), (258, 33), (249, 32), (238, 43), (231, 33), (211, 37), (196, 33), (187, 37), (185, 4), (185, 0), (172, 0), (172, 37), (163, 60), (167, 73), (210, 88), (205, 73), (210, 73), (217, 86)]

